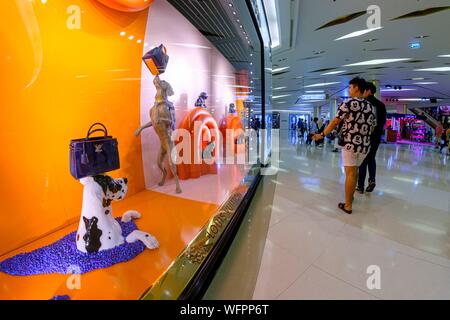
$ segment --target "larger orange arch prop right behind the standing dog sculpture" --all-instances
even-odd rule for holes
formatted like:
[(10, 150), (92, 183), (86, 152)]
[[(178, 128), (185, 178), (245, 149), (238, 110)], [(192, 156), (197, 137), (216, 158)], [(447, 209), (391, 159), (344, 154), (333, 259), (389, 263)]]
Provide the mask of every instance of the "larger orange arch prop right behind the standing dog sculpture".
[[(197, 137), (195, 137), (194, 133), (196, 122), (200, 125), (198, 130), (200, 134), (198, 134)], [(219, 156), (216, 152), (217, 149), (213, 151), (213, 157), (216, 160), (214, 164), (206, 164), (203, 160), (201, 161), (201, 164), (195, 164), (194, 162), (194, 148), (196, 145), (198, 146), (197, 154), (202, 157), (203, 151), (208, 144), (213, 141), (216, 145), (217, 143), (220, 143), (220, 141), (217, 141), (220, 137), (219, 127), (211, 113), (203, 108), (195, 108), (184, 118), (179, 128), (185, 129), (190, 133), (192, 164), (182, 163), (177, 165), (178, 177), (181, 180), (188, 180), (200, 178), (202, 175), (217, 174), (217, 159)], [(203, 141), (203, 138), (206, 138), (206, 141)], [(197, 139), (196, 143), (194, 139)], [(180, 143), (180, 140), (176, 141), (176, 144), (178, 143)], [(183, 156), (183, 154), (180, 156)]]

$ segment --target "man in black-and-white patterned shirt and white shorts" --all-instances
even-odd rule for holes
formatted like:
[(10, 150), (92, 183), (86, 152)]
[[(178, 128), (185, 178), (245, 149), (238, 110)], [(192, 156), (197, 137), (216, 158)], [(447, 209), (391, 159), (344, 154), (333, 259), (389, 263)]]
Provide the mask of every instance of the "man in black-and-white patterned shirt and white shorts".
[(363, 98), (366, 81), (354, 78), (350, 81), (350, 99), (342, 103), (336, 118), (314, 140), (322, 140), (342, 121), (342, 133), (339, 144), (342, 146), (342, 163), (345, 167), (345, 203), (339, 203), (342, 211), (353, 212), (353, 195), (356, 189), (358, 167), (370, 150), (370, 136), (376, 126), (374, 107)]

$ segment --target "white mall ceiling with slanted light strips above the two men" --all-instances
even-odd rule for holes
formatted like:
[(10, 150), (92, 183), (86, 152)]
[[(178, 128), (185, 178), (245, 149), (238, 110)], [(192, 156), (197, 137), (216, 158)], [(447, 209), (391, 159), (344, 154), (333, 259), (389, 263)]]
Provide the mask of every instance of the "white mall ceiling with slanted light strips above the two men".
[[(450, 104), (450, 72), (419, 72), (418, 68), (450, 67), (450, 58), (440, 58), (439, 55), (450, 54), (450, 10), (441, 11), (424, 17), (408, 18), (392, 21), (392, 19), (413, 11), (430, 7), (450, 6), (446, 0), (298, 0), (298, 15), (291, 14), (291, 0), (277, 1), (278, 14), (281, 27), (282, 47), (274, 51), (273, 68), (287, 67), (288, 73), (280, 76), (274, 75), (273, 87), (287, 87), (273, 92), (273, 95), (290, 95), (273, 100), (273, 110), (298, 109), (310, 111), (313, 105), (325, 105), (327, 101), (320, 101), (309, 106), (294, 104), (298, 97), (306, 90), (325, 90), (330, 96), (343, 90), (348, 81), (356, 75), (321, 76), (322, 73), (347, 70), (361, 73), (366, 80), (379, 80), (383, 89), (386, 85), (399, 85), (403, 89), (394, 92), (383, 92), (382, 98), (442, 98), (438, 104)], [(295, 3), (297, 0), (292, 0)], [(381, 26), (383, 29), (370, 32), (356, 38), (334, 41), (335, 39), (354, 31), (367, 29), (368, 14), (360, 16), (344, 24), (317, 30), (326, 23), (352, 13), (366, 11), (370, 5), (381, 8)], [(298, 19), (297, 30), (294, 30), (295, 46), (289, 48), (290, 16)], [(415, 39), (417, 36), (429, 36)], [(368, 39), (377, 39), (373, 42), (364, 42)], [(412, 41), (419, 41), (421, 49), (410, 49)], [(381, 50), (383, 51), (381, 51)], [(387, 50), (385, 50), (387, 49)], [(374, 51), (376, 50), (376, 51)], [(316, 54), (317, 52), (322, 52)], [(312, 57), (312, 58), (311, 58)], [(303, 60), (304, 58), (310, 58)], [(426, 60), (419, 63), (396, 62), (376, 66), (343, 67), (372, 59), (410, 58), (413, 60)], [(386, 67), (382, 69), (369, 69), (373, 67)], [(323, 72), (315, 70), (333, 68)], [(304, 77), (295, 79), (296, 77)], [(425, 78), (421, 81), (407, 80), (411, 78)], [(415, 82), (438, 82), (434, 85), (414, 85)], [(305, 86), (324, 83), (339, 82), (339, 84), (305, 88)], [(337, 97), (346, 93), (337, 94)], [(281, 103), (280, 103), (281, 102)], [(400, 103), (400, 102), (399, 102)], [(405, 102), (401, 102), (404, 104)], [(411, 106), (428, 106), (430, 103), (407, 102)], [(387, 103), (395, 104), (395, 103)]]

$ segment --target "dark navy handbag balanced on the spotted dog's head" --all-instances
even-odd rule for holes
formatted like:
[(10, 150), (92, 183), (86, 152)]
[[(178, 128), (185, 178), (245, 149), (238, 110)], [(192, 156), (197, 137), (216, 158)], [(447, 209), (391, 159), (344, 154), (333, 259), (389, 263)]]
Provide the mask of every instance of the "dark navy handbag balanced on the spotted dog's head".
[[(95, 132), (102, 132), (104, 136), (91, 138)], [(75, 179), (117, 169), (120, 169), (119, 144), (117, 139), (108, 136), (103, 124), (93, 124), (86, 138), (70, 142), (70, 173)]]

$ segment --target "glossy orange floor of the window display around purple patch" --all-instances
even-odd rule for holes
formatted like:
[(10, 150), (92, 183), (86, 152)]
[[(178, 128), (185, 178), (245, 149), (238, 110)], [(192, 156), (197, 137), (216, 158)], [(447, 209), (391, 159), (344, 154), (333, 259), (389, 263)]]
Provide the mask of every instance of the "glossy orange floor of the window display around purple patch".
[[(144, 191), (121, 202), (114, 203), (114, 212), (122, 214), (135, 208), (143, 218), (136, 221), (139, 228), (154, 234), (160, 249), (145, 250), (135, 259), (80, 275), (81, 288), (69, 290), (70, 275), (51, 274), (17, 277), (0, 273), (0, 300), (52, 299), (67, 295), (71, 299), (135, 300), (148, 290), (167, 270), (183, 249), (195, 238), (202, 227), (217, 211), (218, 206)], [(73, 224), (0, 257), (3, 261), (17, 254), (49, 245), (75, 231)], [(74, 266), (76, 267), (76, 266)], [(145, 272), (136, 272), (145, 270)]]

